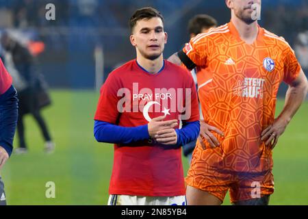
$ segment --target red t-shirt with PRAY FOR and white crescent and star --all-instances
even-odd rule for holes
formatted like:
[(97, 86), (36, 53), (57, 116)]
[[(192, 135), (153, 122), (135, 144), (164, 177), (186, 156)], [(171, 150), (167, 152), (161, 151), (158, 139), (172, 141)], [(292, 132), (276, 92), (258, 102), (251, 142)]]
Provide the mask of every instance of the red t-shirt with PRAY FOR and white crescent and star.
[[(117, 68), (103, 84), (95, 120), (122, 127), (146, 125), (151, 118), (199, 119), (198, 99), (187, 70), (164, 60), (159, 73), (147, 73), (136, 60)], [(114, 144), (110, 194), (180, 196), (185, 194), (181, 148), (151, 140)]]

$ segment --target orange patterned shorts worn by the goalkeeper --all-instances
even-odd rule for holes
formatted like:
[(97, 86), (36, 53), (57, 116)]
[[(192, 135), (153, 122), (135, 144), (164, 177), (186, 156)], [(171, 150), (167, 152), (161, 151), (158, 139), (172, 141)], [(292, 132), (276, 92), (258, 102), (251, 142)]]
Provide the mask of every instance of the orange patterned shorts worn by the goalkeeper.
[(202, 147), (197, 142), (192, 164), (185, 179), (187, 185), (209, 192), (224, 201), (228, 190), (231, 203), (261, 198), (274, 192), (272, 170), (264, 172), (235, 172), (209, 166), (202, 159)]

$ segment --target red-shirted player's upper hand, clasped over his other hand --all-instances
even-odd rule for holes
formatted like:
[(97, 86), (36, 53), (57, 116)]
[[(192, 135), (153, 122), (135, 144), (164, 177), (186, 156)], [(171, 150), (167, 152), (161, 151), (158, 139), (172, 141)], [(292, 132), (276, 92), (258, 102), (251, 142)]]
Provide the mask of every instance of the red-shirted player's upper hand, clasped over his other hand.
[(163, 121), (164, 118), (166, 118), (166, 115), (155, 117), (148, 124), (149, 136), (151, 136), (151, 138), (155, 138), (158, 131), (162, 131), (164, 129), (173, 129), (178, 125), (177, 119)]

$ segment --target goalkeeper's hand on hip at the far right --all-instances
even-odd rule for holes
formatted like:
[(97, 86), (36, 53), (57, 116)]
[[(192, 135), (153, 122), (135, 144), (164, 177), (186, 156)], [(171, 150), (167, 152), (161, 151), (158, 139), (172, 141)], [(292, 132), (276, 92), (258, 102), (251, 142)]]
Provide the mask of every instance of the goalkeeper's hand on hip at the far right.
[[(261, 141), (265, 142), (266, 145), (270, 145), (272, 149), (276, 146), (278, 138), (283, 134), (287, 127), (287, 121), (283, 118), (276, 118), (272, 125), (269, 125), (261, 133)], [(274, 142), (273, 142), (274, 141)]]

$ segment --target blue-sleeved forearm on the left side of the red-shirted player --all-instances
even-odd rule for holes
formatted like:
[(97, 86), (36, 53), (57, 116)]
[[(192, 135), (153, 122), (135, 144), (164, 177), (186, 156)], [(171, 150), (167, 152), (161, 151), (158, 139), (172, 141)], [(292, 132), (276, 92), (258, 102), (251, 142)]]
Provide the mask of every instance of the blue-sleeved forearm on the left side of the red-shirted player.
[(150, 138), (148, 125), (138, 127), (120, 127), (95, 120), (94, 137), (98, 142), (129, 144)]

